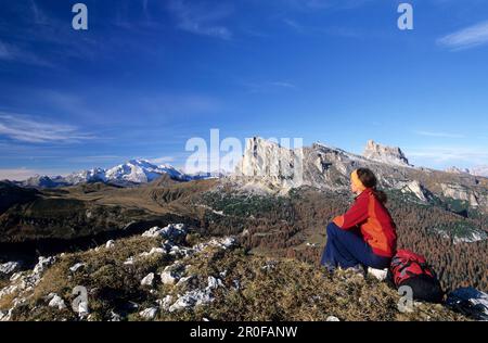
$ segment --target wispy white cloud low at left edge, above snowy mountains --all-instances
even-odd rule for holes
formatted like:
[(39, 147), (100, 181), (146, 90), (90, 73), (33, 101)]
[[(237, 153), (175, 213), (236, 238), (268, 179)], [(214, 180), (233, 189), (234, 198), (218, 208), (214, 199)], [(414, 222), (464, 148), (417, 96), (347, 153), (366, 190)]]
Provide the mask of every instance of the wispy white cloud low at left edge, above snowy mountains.
[(27, 143), (77, 142), (94, 137), (84, 134), (77, 127), (44, 119), (0, 112), (0, 137)]

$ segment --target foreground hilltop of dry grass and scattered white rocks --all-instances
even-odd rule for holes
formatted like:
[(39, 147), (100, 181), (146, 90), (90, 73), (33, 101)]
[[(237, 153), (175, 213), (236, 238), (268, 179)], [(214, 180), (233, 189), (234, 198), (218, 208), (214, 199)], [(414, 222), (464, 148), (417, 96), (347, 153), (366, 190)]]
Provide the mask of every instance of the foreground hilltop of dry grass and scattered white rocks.
[[(2, 305), (9, 308), (0, 308), (0, 321), (466, 319), (441, 305), (414, 303), (408, 312), (396, 306), (399, 295), (380, 281), (384, 278), (382, 270), (372, 272), (374, 277), (344, 270), (328, 274), (290, 258), (260, 257), (233, 249), (239, 243), (232, 237), (204, 240), (192, 245), (194, 253), (184, 257), (145, 258), (129, 267), (121, 264), (120, 257), (129, 251), (141, 255), (146, 244), (160, 244), (160, 238), (117, 241), (121, 247), (118, 254), (102, 249), (40, 259), (37, 271), (20, 274), (1, 290)], [(188, 242), (181, 244), (189, 247)], [(106, 258), (111, 266), (100, 263)], [(49, 266), (48, 261), (54, 265)], [(68, 269), (73, 261), (87, 265), (87, 272), (77, 279)], [(160, 270), (172, 271), (174, 282), (159, 280)], [(146, 272), (141, 282), (140, 276)], [(42, 283), (15, 293), (12, 301), (2, 297), (2, 292), (11, 292), (10, 287), (17, 287), (31, 274), (38, 274)], [(69, 302), (66, 290), (75, 290), (80, 282), (87, 285), (90, 304), (97, 306), (86, 301), (79, 306)], [(110, 294), (99, 291), (106, 284), (111, 285)]]

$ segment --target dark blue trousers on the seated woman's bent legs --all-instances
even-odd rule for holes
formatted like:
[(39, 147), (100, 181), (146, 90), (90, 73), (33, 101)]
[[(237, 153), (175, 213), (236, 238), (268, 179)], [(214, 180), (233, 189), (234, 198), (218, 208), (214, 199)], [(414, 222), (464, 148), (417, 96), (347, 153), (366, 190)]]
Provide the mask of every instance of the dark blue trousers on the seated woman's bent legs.
[(328, 225), (328, 243), (321, 264), (329, 268), (351, 268), (358, 265), (385, 269), (391, 258), (373, 253), (359, 229), (343, 230), (334, 223)]

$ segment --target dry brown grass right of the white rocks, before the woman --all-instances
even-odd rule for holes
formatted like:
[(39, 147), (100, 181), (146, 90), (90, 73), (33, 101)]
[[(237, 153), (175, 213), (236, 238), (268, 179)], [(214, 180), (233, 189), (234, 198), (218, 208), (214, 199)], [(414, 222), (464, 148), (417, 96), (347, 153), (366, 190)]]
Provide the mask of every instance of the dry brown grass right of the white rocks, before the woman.
[[(206, 307), (179, 314), (163, 314), (160, 320), (224, 321), (322, 321), (329, 316), (341, 320), (462, 320), (441, 306), (423, 304), (412, 314), (397, 309), (399, 296), (385, 283), (338, 271), (331, 279), (321, 269), (293, 259), (269, 261), (242, 252), (221, 259), (190, 262), (203, 276), (228, 270), (226, 289)], [(273, 267), (264, 269), (268, 263)], [(233, 280), (241, 289), (233, 290)]]

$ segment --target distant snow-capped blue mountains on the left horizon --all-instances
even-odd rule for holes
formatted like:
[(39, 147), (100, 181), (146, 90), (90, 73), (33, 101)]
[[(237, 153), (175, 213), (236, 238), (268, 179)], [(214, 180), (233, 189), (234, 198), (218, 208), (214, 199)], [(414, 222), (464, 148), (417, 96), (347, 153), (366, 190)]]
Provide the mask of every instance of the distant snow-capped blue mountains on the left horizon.
[(67, 176), (54, 177), (38, 175), (25, 181), (17, 181), (15, 183), (24, 187), (38, 188), (56, 188), (92, 182), (131, 186), (152, 182), (163, 175), (168, 175), (171, 179), (177, 181), (192, 181), (222, 177), (223, 173), (185, 174), (168, 164), (155, 165), (147, 160), (130, 160), (108, 169), (93, 168), (73, 173)]

